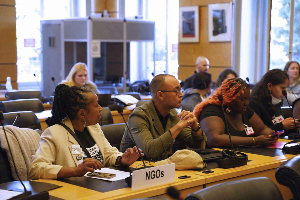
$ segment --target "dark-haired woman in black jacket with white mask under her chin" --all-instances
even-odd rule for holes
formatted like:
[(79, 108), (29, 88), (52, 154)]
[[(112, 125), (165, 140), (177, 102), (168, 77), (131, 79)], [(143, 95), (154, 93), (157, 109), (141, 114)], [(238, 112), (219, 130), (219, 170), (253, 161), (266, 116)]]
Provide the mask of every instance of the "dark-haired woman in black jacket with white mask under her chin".
[(286, 72), (274, 69), (265, 73), (251, 93), (249, 106), (265, 125), (275, 131), (295, 129), (293, 119), (284, 119), (280, 108), (283, 104), (282, 90), (288, 85), (289, 77)]

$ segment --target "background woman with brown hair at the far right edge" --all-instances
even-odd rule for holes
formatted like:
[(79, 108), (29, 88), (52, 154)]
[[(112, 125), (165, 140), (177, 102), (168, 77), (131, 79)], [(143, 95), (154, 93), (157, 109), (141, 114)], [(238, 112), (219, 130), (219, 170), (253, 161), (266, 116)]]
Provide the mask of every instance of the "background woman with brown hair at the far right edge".
[[(289, 76), (289, 86), (286, 87), (286, 92), (289, 104), (292, 104), (300, 97), (300, 65), (297, 61), (288, 61), (284, 66), (284, 71)], [(286, 100), (284, 100), (283, 104), (288, 106)]]

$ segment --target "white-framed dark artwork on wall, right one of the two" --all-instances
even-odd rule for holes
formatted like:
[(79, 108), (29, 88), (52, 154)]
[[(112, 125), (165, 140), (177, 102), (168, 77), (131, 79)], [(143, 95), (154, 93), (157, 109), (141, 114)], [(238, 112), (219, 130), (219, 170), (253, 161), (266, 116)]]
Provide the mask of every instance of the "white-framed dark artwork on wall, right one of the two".
[(231, 41), (232, 2), (208, 4), (208, 39), (210, 42)]

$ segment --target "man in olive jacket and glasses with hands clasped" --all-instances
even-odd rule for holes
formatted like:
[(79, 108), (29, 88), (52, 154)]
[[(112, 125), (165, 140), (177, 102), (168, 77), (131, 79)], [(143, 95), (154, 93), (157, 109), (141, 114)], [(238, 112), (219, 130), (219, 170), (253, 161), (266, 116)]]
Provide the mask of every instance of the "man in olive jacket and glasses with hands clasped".
[[(168, 74), (157, 75), (150, 83), (150, 90), (152, 99), (134, 109), (128, 119), (128, 127), (144, 154), (153, 159), (166, 159), (174, 153), (172, 145), (175, 139), (180, 139), (188, 147), (205, 148), (207, 139), (195, 115), (184, 110), (177, 115), (174, 109), (181, 106), (183, 96), (178, 80)], [(120, 151), (133, 146), (126, 127)]]

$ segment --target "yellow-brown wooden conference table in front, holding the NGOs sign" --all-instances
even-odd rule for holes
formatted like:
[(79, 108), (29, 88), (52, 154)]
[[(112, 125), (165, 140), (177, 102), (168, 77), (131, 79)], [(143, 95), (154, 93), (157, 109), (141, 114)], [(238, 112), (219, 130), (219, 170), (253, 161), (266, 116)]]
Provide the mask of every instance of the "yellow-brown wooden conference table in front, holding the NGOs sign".
[[(279, 139), (281, 142), (288, 142), (289, 140)], [(281, 151), (280, 151), (281, 152)], [(166, 190), (170, 186), (176, 187), (180, 190), (183, 197), (190, 193), (201, 190), (202, 188), (209, 187), (226, 181), (233, 181), (236, 179), (254, 178), (254, 177), (267, 177), (270, 178), (279, 188), (284, 199), (292, 199), (292, 193), (289, 188), (279, 185), (275, 179), (276, 169), (284, 162), (296, 155), (284, 154), (278, 156), (264, 156), (259, 154), (247, 153), (250, 162), (246, 166), (241, 166), (232, 169), (212, 169), (214, 173), (204, 174), (194, 170), (176, 170), (175, 182), (164, 184), (156, 187), (150, 187), (143, 190), (131, 191), (131, 188), (124, 187), (117, 190), (110, 190), (99, 192), (96, 190), (80, 187), (74, 184), (58, 181), (41, 179), (37, 181), (56, 184), (63, 186), (49, 191), (49, 195), (61, 199), (137, 199), (152, 196), (165, 196), (171, 199), (166, 194)], [(140, 164), (141, 161), (134, 163), (131, 167)], [(153, 163), (153, 165), (155, 165)], [(190, 178), (179, 179), (177, 177), (182, 175), (189, 175)], [(83, 177), (86, 178), (86, 177)], [(102, 180), (97, 180), (102, 181)], [(100, 183), (100, 182), (99, 182)]]

